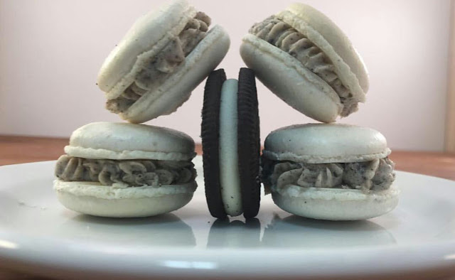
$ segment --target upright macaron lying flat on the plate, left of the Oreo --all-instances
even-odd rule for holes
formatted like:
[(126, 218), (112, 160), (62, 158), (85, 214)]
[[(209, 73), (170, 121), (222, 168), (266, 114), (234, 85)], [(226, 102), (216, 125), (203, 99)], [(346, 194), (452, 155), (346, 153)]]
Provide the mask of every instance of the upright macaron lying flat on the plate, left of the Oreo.
[(66, 208), (103, 217), (177, 210), (196, 190), (190, 136), (145, 124), (97, 122), (76, 129), (55, 166)]

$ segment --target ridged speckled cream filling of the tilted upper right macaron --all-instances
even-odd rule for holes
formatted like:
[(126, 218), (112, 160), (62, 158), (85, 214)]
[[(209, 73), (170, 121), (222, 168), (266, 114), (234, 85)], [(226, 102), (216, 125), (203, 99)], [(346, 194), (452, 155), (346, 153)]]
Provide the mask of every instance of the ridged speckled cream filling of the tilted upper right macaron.
[(250, 33), (276, 46), (300, 61), (305, 68), (314, 72), (328, 83), (340, 97), (343, 110), (342, 117), (357, 111), (358, 100), (355, 99), (336, 74), (333, 63), (308, 38), (277, 16), (270, 16), (250, 28)]

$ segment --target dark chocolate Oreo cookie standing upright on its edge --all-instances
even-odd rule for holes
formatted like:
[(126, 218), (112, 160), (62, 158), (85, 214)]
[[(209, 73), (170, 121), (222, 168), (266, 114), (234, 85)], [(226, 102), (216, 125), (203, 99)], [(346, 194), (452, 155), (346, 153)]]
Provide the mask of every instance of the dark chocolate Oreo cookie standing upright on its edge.
[(259, 113), (255, 73), (240, 69), (238, 80), (212, 72), (204, 91), (201, 137), (205, 197), (213, 217), (259, 211)]

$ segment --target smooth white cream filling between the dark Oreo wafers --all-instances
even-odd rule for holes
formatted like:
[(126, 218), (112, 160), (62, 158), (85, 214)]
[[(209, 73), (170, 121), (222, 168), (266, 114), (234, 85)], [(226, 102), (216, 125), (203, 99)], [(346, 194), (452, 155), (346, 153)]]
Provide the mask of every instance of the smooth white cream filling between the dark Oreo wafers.
[(242, 214), (242, 193), (237, 154), (238, 81), (226, 80), (220, 98), (220, 185), (225, 211), (230, 216)]

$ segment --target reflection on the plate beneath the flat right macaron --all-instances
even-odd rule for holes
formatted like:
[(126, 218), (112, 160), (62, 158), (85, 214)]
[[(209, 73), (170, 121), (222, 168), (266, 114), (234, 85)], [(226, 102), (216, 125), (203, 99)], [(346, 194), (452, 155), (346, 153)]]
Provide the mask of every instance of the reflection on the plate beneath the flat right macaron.
[(395, 244), (393, 235), (369, 220), (325, 221), (274, 215), (262, 237), (265, 247), (343, 248)]

